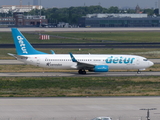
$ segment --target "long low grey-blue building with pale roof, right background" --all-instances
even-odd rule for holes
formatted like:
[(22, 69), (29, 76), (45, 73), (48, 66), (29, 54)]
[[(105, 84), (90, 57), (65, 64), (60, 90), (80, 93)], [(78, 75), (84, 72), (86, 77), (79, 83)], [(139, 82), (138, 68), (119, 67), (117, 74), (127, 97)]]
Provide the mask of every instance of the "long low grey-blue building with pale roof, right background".
[(160, 17), (147, 14), (88, 14), (79, 18), (79, 27), (160, 27)]

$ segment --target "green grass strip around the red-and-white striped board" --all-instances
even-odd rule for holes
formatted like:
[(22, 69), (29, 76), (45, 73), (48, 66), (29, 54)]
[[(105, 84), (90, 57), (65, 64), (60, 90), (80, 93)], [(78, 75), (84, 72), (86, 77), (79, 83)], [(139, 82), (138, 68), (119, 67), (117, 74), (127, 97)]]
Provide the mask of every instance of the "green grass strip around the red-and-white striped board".
[[(89, 42), (160, 42), (159, 32), (23, 32), (31, 43), (89, 43)], [(39, 40), (39, 34), (51, 35)], [(0, 43), (13, 43), (11, 32), (0, 32)]]

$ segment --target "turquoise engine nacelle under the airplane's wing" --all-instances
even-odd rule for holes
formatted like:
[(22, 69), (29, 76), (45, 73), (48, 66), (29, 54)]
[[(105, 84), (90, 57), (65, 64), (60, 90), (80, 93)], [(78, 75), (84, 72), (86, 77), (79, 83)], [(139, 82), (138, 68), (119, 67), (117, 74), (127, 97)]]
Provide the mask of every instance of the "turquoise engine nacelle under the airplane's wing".
[(89, 70), (92, 72), (108, 72), (109, 67), (107, 65), (97, 65), (93, 70)]

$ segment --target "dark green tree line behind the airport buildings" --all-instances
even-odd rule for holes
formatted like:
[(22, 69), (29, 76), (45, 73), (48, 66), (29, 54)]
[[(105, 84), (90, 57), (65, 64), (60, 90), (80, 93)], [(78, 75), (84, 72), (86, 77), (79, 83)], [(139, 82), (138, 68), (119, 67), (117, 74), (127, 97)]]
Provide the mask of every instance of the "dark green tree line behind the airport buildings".
[[(158, 15), (158, 9), (141, 9), (142, 13), (147, 13), (149, 16)], [(69, 7), (69, 8), (43, 8), (40, 10), (32, 10), (25, 15), (45, 15), (49, 23), (66, 22), (69, 24), (77, 24), (78, 18), (86, 16), (87, 14), (93, 13), (136, 13), (135, 9), (119, 9), (118, 7), (104, 8), (100, 5), (97, 6), (81, 6), (81, 7)], [(8, 14), (1, 13), (1, 17), (11, 16), (12, 13)]]

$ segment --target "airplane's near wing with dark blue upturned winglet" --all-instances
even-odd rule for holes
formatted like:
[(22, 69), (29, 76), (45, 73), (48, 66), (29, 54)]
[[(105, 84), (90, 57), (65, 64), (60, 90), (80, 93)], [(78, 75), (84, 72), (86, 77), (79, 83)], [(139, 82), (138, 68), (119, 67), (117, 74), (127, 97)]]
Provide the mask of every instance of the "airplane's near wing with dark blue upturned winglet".
[(77, 68), (78, 69), (89, 69), (89, 68), (94, 68), (94, 66), (96, 66), (96, 64), (90, 64), (90, 63), (83, 63), (83, 62), (79, 62), (75, 59), (75, 57), (73, 56), (72, 53), (69, 53), (72, 59), (72, 62), (76, 62), (77, 63)]

